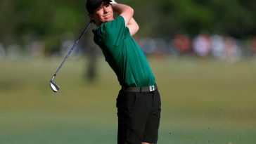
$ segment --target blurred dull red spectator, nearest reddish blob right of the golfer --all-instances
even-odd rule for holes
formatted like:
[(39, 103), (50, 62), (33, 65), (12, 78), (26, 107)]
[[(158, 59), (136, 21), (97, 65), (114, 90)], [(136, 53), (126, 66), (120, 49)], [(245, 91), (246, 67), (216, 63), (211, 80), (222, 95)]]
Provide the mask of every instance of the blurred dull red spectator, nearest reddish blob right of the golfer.
[(186, 34), (176, 34), (172, 40), (172, 46), (182, 55), (191, 51), (191, 40)]

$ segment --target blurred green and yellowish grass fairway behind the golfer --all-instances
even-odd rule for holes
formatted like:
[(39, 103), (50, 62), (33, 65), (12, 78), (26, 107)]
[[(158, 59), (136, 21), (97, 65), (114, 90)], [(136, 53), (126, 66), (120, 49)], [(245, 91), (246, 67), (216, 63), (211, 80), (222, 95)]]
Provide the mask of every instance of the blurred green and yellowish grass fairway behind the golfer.
[[(70, 58), (0, 61), (0, 143), (116, 143), (115, 98), (120, 89), (108, 64), (98, 60), (94, 83), (87, 62)], [(193, 58), (151, 58), (162, 98), (158, 143), (256, 142), (256, 65)]]

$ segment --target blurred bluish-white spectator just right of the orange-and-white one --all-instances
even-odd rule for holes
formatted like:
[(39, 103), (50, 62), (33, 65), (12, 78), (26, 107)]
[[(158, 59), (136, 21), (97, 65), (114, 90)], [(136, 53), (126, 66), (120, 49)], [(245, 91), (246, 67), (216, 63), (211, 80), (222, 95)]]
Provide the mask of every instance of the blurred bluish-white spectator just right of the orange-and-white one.
[(223, 58), (224, 38), (222, 36), (215, 34), (210, 39), (212, 41), (212, 55), (216, 58)]

